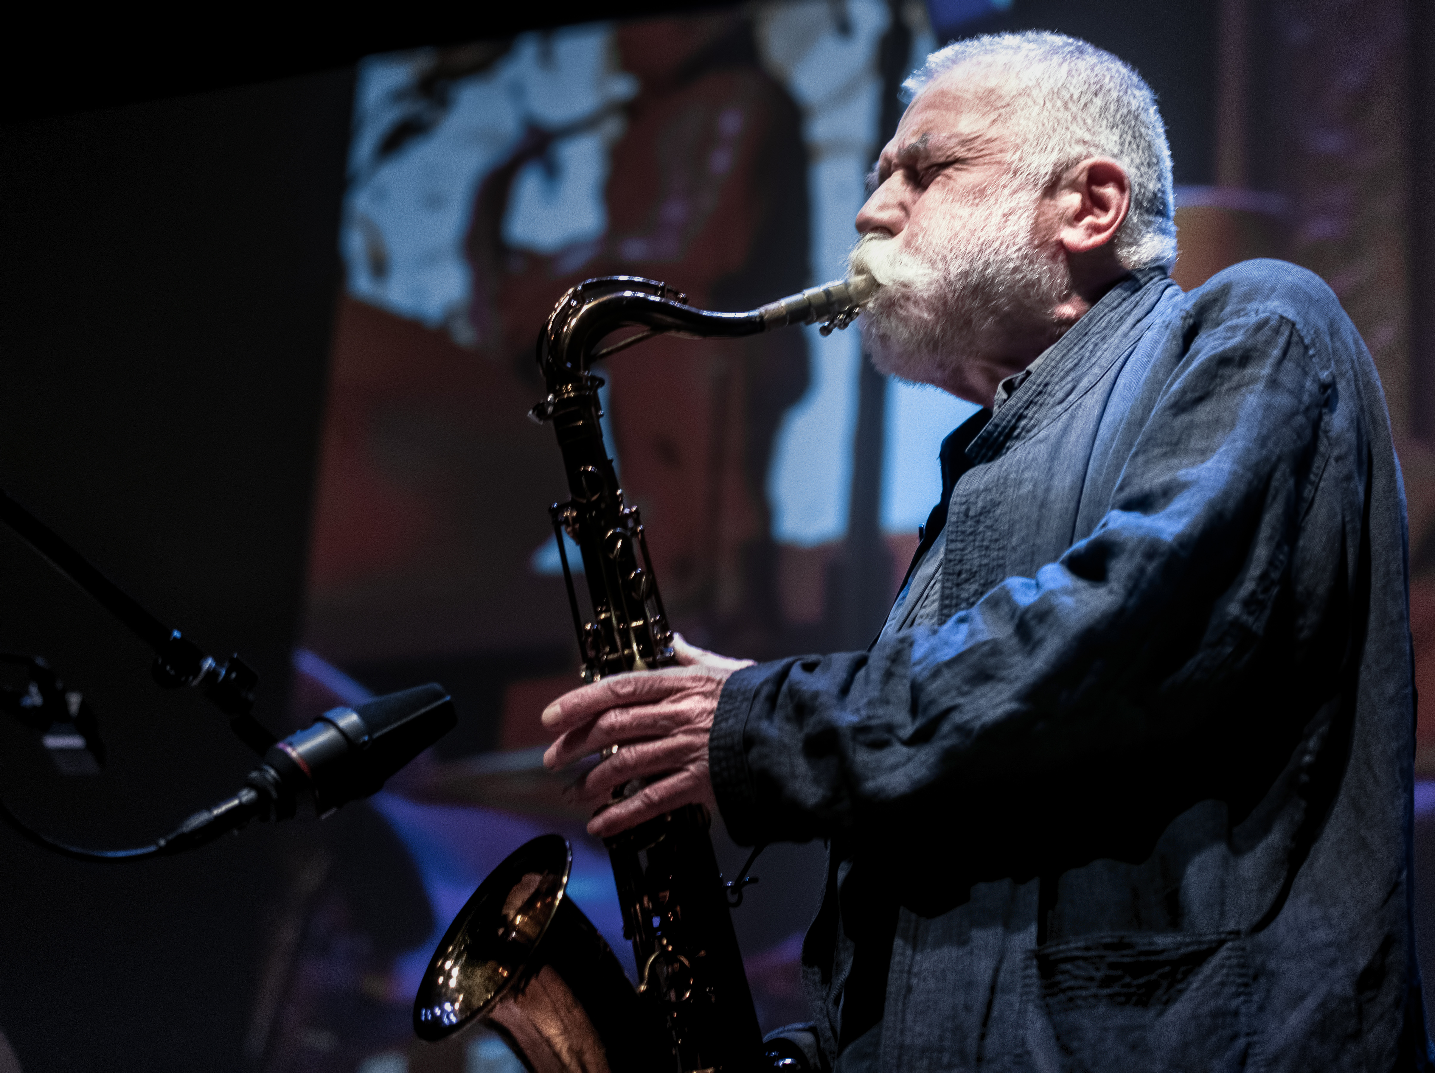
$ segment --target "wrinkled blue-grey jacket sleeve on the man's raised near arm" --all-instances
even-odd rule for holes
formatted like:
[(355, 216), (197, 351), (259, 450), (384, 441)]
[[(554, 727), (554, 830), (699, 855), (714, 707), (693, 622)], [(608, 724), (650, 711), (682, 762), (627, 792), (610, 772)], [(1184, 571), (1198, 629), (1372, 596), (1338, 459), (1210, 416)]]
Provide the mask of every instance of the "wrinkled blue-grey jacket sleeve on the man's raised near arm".
[(1035, 577), (867, 653), (745, 668), (710, 737), (740, 842), (920, 822), (933, 795), (1204, 726), (1260, 650), (1329, 453), (1332, 377), (1284, 317), (1204, 331), (1152, 387), (1108, 509)]

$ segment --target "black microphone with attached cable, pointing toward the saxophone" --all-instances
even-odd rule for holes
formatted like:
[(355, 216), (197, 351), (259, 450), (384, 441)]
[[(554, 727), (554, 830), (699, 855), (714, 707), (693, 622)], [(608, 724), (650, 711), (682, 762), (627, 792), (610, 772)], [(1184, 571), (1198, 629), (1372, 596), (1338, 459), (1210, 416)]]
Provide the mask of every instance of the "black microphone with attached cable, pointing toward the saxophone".
[[(40, 836), (42, 845), (88, 861), (133, 859), (194, 849), (253, 819), (323, 819), (356, 798), (377, 793), (386, 779), (456, 724), (453, 701), (438, 683), (330, 709), (270, 746), (238, 793), (199, 809), (152, 846), (92, 851)], [(36, 839), (34, 832), (22, 833)]]

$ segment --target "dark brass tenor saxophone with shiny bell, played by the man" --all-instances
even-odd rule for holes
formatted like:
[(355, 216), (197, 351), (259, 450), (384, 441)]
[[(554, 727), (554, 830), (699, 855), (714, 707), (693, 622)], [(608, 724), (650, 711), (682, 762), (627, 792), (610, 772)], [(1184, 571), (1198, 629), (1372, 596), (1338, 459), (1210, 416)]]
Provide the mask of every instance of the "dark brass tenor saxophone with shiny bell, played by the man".
[[(746, 313), (695, 308), (684, 294), (633, 275), (578, 284), (538, 334), (547, 397), (530, 416), (558, 436), (571, 499), (550, 515), (584, 681), (676, 664), (647, 538), (623, 502), (598, 423), (594, 361), (656, 334), (736, 339), (789, 324), (847, 327), (870, 277), (812, 287)], [(603, 346), (613, 333), (634, 333)], [(584, 621), (564, 534), (583, 555), (593, 617)], [(640, 780), (614, 790), (636, 793)], [(604, 839), (634, 988), (597, 928), (567, 897), (573, 851), (560, 835), (519, 846), (479, 885), (439, 942), (415, 998), (413, 1027), (436, 1041), (474, 1020), (537, 1073), (700, 1073), (798, 1067), (763, 1053), (729, 901), (702, 805), (686, 805)], [(751, 859), (749, 859), (751, 864)]]

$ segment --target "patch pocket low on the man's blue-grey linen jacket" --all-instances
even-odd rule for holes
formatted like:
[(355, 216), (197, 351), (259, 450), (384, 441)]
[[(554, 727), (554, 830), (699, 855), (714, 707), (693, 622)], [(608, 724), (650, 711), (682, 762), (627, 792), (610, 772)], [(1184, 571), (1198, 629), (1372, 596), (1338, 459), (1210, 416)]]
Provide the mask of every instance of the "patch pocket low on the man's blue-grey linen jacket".
[(1257, 1069), (1251, 980), (1236, 932), (1095, 935), (1026, 953), (1027, 1069)]

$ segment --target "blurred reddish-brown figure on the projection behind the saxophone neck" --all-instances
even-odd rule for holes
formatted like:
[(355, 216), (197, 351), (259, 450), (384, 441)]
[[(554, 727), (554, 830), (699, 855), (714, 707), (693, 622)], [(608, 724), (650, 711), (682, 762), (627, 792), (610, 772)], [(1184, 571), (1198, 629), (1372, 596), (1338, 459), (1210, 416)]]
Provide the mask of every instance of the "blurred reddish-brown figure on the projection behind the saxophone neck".
[[(479, 347), (531, 380), (537, 328), (583, 278), (647, 275), (703, 308), (752, 308), (808, 283), (806, 153), (796, 105), (763, 70), (746, 16), (621, 26), (639, 82), (611, 146), (607, 230), (535, 252), (505, 240), (518, 179), (563, 131), (530, 129), (478, 189), (468, 257)], [(613, 115), (596, 115), (601, 122)], [(779, 627), (765, 481), (782, 412), (806, 387), (801, 333), (657, 339), (601, 370), (629, 501), (662, 534), (656, 571), (690, 634), (763, 651)], [(538, 397), (535, 394), (535, 397)]]

